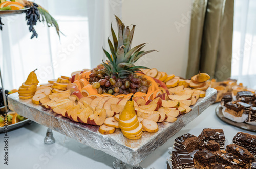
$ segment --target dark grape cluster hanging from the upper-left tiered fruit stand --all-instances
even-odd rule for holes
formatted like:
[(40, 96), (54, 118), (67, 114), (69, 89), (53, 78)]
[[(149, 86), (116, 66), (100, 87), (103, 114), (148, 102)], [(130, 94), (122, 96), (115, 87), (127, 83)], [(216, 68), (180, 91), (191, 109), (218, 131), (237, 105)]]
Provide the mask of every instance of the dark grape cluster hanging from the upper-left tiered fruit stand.
[(36, 25), (36, 22), (40, 21), (40, 13), (37, 9), (38, 5), (33, 3), (33, 6), (29, 10), (26, 11), (26, 20), (28, 20), (27, 25), (29, 25), (29, 31), (32, 32), (32, 36), (30, 39), (36, 37), (37, 33), (33, 26)]

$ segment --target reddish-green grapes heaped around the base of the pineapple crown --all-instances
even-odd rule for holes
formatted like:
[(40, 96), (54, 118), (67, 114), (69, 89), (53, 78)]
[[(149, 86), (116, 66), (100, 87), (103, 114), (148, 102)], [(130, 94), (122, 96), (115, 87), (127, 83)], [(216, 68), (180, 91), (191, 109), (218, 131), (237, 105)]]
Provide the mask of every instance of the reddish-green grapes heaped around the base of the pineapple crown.
[(130, 74), (127, 78), (117, 78), (104, 73), (104, 67), (99, 65), (91, 70), (89, 82), (93, 89), (97, 89), (98, 94), (108, 93), (114, 96), (136, 92), (147, 93), (148, 83), (142, 76)]

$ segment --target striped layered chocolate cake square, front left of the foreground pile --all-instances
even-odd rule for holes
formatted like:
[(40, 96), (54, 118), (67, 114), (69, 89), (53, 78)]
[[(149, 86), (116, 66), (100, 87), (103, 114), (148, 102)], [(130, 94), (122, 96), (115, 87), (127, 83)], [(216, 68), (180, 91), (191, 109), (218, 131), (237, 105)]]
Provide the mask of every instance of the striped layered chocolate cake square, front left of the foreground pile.
[(193, 160), (187, 150), (172, 151), (170, 160), (172, 161), (173, 169), (194, 168)]

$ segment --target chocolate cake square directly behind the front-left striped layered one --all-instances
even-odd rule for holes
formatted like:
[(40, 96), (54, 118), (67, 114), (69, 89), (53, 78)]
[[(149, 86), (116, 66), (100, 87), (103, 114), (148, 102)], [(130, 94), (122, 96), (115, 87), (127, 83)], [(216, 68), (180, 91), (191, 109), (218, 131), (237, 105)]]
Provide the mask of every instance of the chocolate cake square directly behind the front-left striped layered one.
[(198, 149), (198, 137), (189, 133), (184, 134), (174, 140), (173, 148), (176, 150), (187, 150), (189, 153)]

